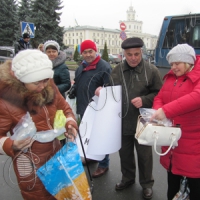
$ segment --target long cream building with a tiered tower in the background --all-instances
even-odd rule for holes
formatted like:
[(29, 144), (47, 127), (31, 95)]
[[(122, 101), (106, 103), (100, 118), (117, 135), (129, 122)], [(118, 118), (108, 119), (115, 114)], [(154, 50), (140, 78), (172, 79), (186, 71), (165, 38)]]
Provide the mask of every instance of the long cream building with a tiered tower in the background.
[[(133, 6), (130, 6), (127, 10), (127, 19), (119, 21), (124, 22), (126, 25), (126, 36), (127, 37), (140, 37), (143, 39), (147, 49), (154, 49), (157, 42), (157, 36), (142, 33), (142, 21), (135, 19), (135, 10)], [(69, 49), (74, 50), (76, 45), (81, 44), (82, 41), (90, 39), (93, 40), (98, 48), (98, 52), (102, 53), (105, 43), (107, 44), (108, 53), (110, 54), (121, 54), (121, 43), (120, 38), (121, 30), (109, 29), (104, 27), (94, 26), (75, 26), (65, 28), (63, 36), (63, 43)]]

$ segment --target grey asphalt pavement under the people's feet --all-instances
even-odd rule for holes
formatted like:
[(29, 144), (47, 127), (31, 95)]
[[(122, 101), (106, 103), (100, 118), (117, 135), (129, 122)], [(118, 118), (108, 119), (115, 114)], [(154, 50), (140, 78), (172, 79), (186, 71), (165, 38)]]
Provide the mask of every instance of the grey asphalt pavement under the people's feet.
[[(0, 156), (0, 200), (22, 200), (16, 183), (15, 175), (13, 174), (12, 166), (10, 168), (11, 174), (8, 174), (8, 168), (11, 160), (7, 156)], [(7, 162), (7, 163), (6, 163)], [(6, 164), (6, 165), (5, 165)], [(97, 164), (90, 165), (90, 171), (93, 172)], [(3, 170), (4, 169), (4, 170)], [(85, 167), (87, 173), (87, 169)], [(88, 174), (88, 173), (87, 173)], [(9, 178), (11, 177), (11, 180)], [(166, 171), (159, 164), (159, 156), (154, 155), (154, 169), (153, 176), (155, 179), (154, 183), (154, 196), (152, 200), (166, 200)], [(110, 168), (109, 171), (102, 177), (93, 179), (93, 200), (143, 200), (141, 195), (141, 187), (138, 183), (138, 173), (136, 183), (123, 191), (116, 192), (114, 187), (115, 184), (120, 181), (121, 172), (119, 164), (118, 153), (110, 155)], [(9, 185), (6, 183), (8, 182)], [(90, 181), (89, 181), (90, 182)], [(39, 200), (39, 198), (38, 198)]]

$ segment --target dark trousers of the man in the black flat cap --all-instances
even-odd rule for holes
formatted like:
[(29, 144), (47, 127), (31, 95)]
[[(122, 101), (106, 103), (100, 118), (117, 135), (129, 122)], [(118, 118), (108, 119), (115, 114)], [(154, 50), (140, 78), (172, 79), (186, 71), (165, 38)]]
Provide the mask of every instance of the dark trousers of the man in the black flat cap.
[(142, 188), (151, 188), (154, 180), (152, 177), (153, 156), (152, 147), (138, 144), (134, 135), (122, 135), (122, 147), (119, 150), (122, 181), (135, 180), (136, 165), (134, 146), (137, 151), (139, 182)]

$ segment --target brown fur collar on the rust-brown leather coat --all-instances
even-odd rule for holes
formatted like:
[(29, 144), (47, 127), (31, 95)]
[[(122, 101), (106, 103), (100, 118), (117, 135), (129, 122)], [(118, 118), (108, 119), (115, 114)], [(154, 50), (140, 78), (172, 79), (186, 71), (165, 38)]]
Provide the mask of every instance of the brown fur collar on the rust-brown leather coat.
[(11, 74), (11, 61), (6, 61), (0, 67), (0, 98), (26, 109), (30, 113), (37, 113), (40, 107), (53, 102), (55, 85), (51, 80), (42, 93), (31, 92), (24, 84)]

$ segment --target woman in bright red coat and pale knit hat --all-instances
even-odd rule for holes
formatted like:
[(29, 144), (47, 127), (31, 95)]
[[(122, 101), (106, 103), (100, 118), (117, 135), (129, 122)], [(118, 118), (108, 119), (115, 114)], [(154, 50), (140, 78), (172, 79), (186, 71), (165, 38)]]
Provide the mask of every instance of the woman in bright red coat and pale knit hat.
[[(190, 200), (200, 199), (200, 57), (187, 44), (175, 46), (167, 55), (171, 70), (154, 99), (157, 111), (152, 119), (169, 118), (180, 125), (178, 147), (160, 158), (168, 171), (168, 199), (180, 188), (183, 176), (188, 179)], [(162, 147), (165, 152), (168, 147)]]

